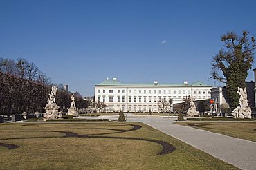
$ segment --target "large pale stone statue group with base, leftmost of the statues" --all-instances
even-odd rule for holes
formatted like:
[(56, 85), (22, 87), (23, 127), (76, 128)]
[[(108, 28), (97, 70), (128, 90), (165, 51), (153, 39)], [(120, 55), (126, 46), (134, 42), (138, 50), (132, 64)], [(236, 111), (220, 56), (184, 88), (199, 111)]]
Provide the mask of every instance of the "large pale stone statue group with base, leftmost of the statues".
[(62, 113), (59, 112), (60, 106), (55, 102), (57, 89), (57, 86), (53, 86), (51, 88), (51, 94), (49, 94), (48, 97), (48, 104), (44, 107), (46, 110), (46, 113), (44, 113), (44, 120), (62, 118)]

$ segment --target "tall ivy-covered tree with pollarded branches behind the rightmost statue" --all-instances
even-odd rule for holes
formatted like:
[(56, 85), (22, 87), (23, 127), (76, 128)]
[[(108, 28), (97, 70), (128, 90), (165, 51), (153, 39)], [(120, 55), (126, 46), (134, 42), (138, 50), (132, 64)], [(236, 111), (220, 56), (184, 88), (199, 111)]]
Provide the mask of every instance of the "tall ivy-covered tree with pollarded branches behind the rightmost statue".
[(241, 36), (228, 32), (221, 36), (226, 50), (221, 48), (212, 59), (212, 77), (219, 82), (226, 83), (231, 107), (239, 106), (237, 87), (245, 87), (245, 80), (253, 64), (255, 37), (250, 37), (244, 30)]

